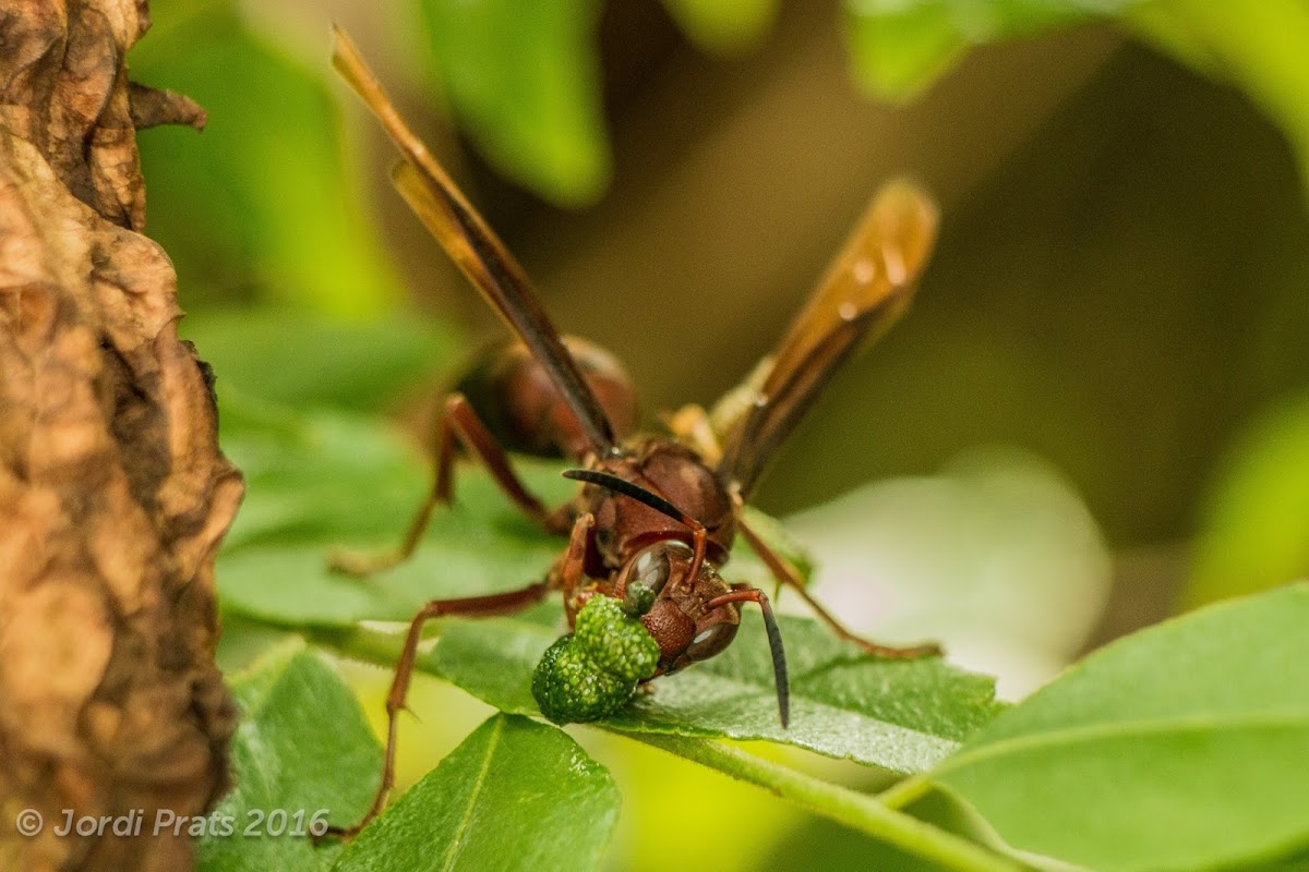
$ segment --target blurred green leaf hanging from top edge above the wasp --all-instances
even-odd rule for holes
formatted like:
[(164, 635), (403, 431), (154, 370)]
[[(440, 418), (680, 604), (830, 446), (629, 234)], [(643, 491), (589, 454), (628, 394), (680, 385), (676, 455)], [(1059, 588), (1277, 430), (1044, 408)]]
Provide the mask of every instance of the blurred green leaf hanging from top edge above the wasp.
[(437, 78), (478, 150), (563, 207), (613, 173), (601, 107), (597, 0), (421, 0)]

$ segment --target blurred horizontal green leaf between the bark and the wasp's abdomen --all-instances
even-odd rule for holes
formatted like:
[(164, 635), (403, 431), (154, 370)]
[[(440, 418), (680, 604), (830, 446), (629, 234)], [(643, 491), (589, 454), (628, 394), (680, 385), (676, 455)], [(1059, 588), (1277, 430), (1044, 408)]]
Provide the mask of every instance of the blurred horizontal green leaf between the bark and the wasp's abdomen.
[(301, 408), (378, 411), (448, 370), (462, 346), (454, 331), (412, 315), (347, 323), (274, 307), (207, 310), (179, 332), (220, 390)]

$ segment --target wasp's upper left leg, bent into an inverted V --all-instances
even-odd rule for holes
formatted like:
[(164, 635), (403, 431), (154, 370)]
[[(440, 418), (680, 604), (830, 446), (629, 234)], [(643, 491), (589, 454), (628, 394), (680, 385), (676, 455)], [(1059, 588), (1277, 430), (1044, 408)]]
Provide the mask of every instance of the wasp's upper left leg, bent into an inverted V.
[(478, 417), (473, 407), (462, 394), (452, 394), (445, 399), (445, 414), (441, 417), (441, 433), (437, 443), (436, 472), (432, 477), (432, 489), (423, 501), (423, 506), (414, 515), (404, 539), (401, 544), (381, 554), (360, 554), (351, 550), (338, 550), (329, 557), (329, 566), (347, 575), (372, 575), (397, 563), (403, 563), (423, 539), (423, 532), (432, 522), (432, 512), (437, 506), (450, 505), (454, 497), (454, 459), (457, 443), (462, 443), (482, 464), (491, 472), (491, 477), (500, 485), (500, 490), (513, 501), (522, 514), (548, 533), (563, 533), (568, 531), (572, 519), (563, 511), (550, 511), (531, 493), (524, 488), (518, 475), (509, 463), (509, 456), (504, 448), (492, 438), (486, 425)]

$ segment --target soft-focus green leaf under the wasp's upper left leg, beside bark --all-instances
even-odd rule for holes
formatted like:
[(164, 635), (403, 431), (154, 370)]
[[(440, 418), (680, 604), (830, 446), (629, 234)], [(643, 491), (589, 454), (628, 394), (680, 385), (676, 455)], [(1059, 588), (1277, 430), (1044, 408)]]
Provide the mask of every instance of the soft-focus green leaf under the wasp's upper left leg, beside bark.
[[(283, 414), (279, 429), (278, 418), (255, 426), (247, 413), (224, 443), (247, 478), (246, 503), (217, 562), (226, 609), (285, 626), (407, 620), (432, 597), (537, 580), (560, 550), (559, 540), (526, 520), (490, 476), (461, 467), (457, 505), (437, 512), (412, 560), (372, 579), (330, 573), (335, 549), (394, 546), (432, 473), (378, 422)], [(558, 465), (517, 465), (550, 499), (575, 489)]]

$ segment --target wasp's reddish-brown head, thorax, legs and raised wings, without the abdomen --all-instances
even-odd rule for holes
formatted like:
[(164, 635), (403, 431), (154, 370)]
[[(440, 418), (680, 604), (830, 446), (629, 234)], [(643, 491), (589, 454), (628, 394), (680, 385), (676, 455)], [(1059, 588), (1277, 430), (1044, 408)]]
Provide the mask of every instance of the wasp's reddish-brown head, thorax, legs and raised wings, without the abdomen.
[(458, 443), (487, 467), (526, 515), (545, 529), (568, 536), (564, 553), (542, 580), (504, 594), (433, 600), (414, 617), (387, 698), (390, 732), (382, 786), (369, 813), (348, 833), (385, 805), (393, 783), (397, 714), (404, 706), (421, 628), (437, 616), (514, 612), (560, 591), (571, 624), (586, 599), (623, 599), (628, 587), (640, 582), (654, 592), (653, 605), (640, 617), (658, 643), (654, 675), (666, 675), (723, 651), (736, 635), (741, 605), (754, 603), (768, 630), (785, 726), (785, 655), (768, 597), (719, 574), (740, 533), (778, 582), (795, 590), (842, 638), (885, 658), (937, 652), (935, 646), (894, 648), (851, 634), (809, 596), (795, 567), (768, 548), (741, 514), (778, 444), (840, 362), (908, 305), (937, 224), (936, 208), (922, 191), (897, 182), (877, 195), (776, 353), (732, 395), (734, 401), (721, 407), (717, 421), (711, 425), (709, 416), (689, 407), (674, 417), (672, 435), (620, 439), (606, 413), (615, 407), (613, 397), (606, 403), (597, 399), (594, 379), (588, 380), (579, 367), (517, 260), (399, 118), (339, 30), (334, 63), (399, 148), (403, 159), (391, 178), (401, 195), (526, 349), (539, 378), (534, 377), (530, 388), (512, 392), (507, 407), (551, 409), (528, 413), (524, 420), (529, 430), (531, 421), (548, 425), (548, 441), (580, 465), (564, 475), (583, 482), (573, 499), (547, 509), (520, 482), (504, 448), (467, 399), (454, 394), (445, 404), (432, 494), (404, 544), (381, 558), (338, 560), (339, 567), (355, 573), (403, 560), (433, 507), (449, 501)]

